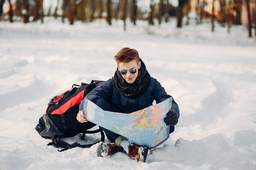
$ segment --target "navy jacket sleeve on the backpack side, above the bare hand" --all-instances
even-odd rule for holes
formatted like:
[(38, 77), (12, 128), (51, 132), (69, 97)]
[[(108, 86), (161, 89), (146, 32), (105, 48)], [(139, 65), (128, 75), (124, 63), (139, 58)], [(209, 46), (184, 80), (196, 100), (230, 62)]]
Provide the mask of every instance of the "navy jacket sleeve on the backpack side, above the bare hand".
[[(104, 82), (100, 86), (95, 87), (90, 93), (88, 93), (85, 96), (85, 98), (97, 104), (98, 106), (100, 104), (101, 106), (99, 107), (105, 110), (104, 104), (108, 105), (107, 101), (110, 98), (112, 91), (113, 91), (112, 79), (108, 79), (106, 82)], [(81, 101), (81, 104), (79, 105), (79, 111), (83, 110), (83, 102), (84, 102), (84, 99)]]

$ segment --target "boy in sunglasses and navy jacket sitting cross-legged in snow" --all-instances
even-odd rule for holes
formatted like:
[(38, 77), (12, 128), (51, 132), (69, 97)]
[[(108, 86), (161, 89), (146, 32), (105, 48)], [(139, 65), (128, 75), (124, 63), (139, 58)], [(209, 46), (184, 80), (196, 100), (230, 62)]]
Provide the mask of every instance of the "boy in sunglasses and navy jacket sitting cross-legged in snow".
[[(160, 103), (171, 97), (156, 79), (150, 77), (137, 50), (125, 47), (115, 55), (115, 61), (117, 71), (114, 77), (94, 88), (85, 97), (103, 110), (132, 113), (151, 106), (154, 100)], [(79, 110), (76, 119), (81, 123), (87, 122), (83, 115), (83, 101)], [(170, 126), (170, 133), (174, 131), (174, 125), (177, 124), (179, 117), (179, 107), (173, 100), (171, 111), (164, 118), (166, 125)], [(108, 140), (114, 143), (101, 144), (101, 156), (113, 155), (125, 150), (131, 159), (146, 161), (148, 154), (146, 146), (130, 144), (125, 137), (101, 128)]]

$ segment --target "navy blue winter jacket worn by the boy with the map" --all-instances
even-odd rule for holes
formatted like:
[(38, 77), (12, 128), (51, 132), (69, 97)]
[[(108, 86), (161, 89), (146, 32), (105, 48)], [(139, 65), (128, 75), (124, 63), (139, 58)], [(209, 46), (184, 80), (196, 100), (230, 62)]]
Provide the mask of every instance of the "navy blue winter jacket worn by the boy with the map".
[[(146, 66), (141, 59), (140, 61), (140, 79), (142, 79), (146, 73)], [(123, 79), (124, 82), (126, 82), (118, 69), (117, 75), (119, 78)], [(135, 81), (134, 83), (137, 83), (139, 80)], [(103, 110), (119, 113), (132, 113), (137, 110), (141, 110), (151, 106), (154, 100), (156, 101), (156, 103), (160, 103), (168, 99), (169, 97), (171, 96), (165, 92), (161, 84), (157, 81), (157, 79), (153, 77), (151, 77), (150, 84), (146, 89), (145, 93), (143, 93), (141, 96), (134, 99), (126, 97), (119, 93), (115, 86), (114, 77), (112, 77), (111, 79), (108, 79), (106, 82), (104, 82), (101, 86), (97, 86), (96, 88), (94, 88), (90, 93), (88, 93), (88, 95), (86, 95), (85, 98), (97, 104)], [(111, 110), (109, 109), (109, 107)], [(83, 100), (80, 104), (79, 110), (83, 110)], [(174, 99), (172, 102), (171, 110), (174, 110), (177, 116), (180, 117), (180, 110)]]

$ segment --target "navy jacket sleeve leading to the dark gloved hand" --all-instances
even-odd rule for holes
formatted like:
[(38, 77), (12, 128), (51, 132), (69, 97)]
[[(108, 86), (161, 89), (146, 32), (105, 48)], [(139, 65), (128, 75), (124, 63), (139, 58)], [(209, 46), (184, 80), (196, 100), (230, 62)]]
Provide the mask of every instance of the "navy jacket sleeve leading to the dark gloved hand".
[[(153, 95), (156, 103), (163, 102), (164, 100), (171, 97), (171, 95), (168, 95), (166, 91), (164, 90), (164, 87), (161, 86), (161, 84), (155, 79), (154, 89), (153, 89)], [(171, 110), (174, 110), (177, 114), (178, 118), (180, 117), (180, 109), (177, 103), (174, 101), (172, 102)]]

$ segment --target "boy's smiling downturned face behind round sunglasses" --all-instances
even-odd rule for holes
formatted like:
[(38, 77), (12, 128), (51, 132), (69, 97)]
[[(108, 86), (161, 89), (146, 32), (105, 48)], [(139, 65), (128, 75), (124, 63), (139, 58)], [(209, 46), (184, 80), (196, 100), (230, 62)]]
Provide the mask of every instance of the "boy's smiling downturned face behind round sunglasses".
[[(132, 84), (135, 82), (139, 73), (140, 66), (141, 66), (141, 62), (139, 61), (139, 63), (137, 63), (136, 60), (132, 60), (130, 62), (120, 62), (119, 64), (117, 64), (119, 71), (122, 71), (122, 70), (127, 71), (126, 75), (123, 75), (123, 74), (121, 75), (129, 84)], [(130, 73), (130, 69), (132, 68), (136, 69), (136, 73), (134, 74)]]

